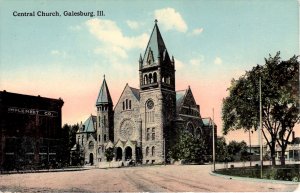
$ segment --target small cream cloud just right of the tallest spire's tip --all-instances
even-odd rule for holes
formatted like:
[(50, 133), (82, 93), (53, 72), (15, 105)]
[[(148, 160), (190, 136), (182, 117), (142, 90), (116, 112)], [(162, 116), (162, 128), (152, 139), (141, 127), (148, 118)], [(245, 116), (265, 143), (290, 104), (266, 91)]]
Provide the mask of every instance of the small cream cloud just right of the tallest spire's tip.
[(173, 8), (164, 8), (154, 11), (154, 17), (166, 30), (186, 32), (188, 27), (179, 12)]

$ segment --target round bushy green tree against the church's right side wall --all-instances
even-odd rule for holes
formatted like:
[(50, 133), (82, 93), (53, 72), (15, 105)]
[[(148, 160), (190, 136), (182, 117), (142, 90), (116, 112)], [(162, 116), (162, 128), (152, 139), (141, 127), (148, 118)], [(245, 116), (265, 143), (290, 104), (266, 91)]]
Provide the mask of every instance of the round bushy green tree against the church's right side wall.
[(206, 152), (205, 142), (201, 137), (193, 136), (188, 131), (181, 131), (170, 156), (175, 160), (202, 163), (206, 159)]

